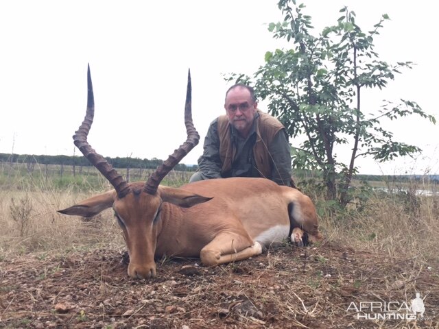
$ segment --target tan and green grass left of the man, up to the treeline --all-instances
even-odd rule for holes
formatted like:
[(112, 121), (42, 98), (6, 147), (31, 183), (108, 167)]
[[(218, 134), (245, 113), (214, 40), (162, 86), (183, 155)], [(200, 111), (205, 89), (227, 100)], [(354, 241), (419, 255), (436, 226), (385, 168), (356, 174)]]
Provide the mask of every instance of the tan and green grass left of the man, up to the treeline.
[[(85, 172), (86, 171), (86, 172)], [(124, 172), (120, 170), (120, 172)], [(0, 260), (29, 252), (57, 252), (99, 244), (123, 245), (119, 226), (112, 210), (104, 210), (92, 221), (58, 214), (81, 199), (112, 186), (95, 168), (73, 176), (71, 167), (50, 165), (32, 173), (24, 164), (2, 164), (0, 168)], [(150, 169), (131, 169), (130, 176), (146, 179)], [(171, 171), (164, 183), (179, 186), (189, 181), (191, 172)]]

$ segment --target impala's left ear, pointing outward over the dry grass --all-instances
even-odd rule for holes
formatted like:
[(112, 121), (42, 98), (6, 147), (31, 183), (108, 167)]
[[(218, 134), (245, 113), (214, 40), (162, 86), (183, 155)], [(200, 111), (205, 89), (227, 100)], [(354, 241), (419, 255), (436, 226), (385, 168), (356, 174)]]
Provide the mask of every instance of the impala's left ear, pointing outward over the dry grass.
[(93, 217), (102, 210), (110, 208), (115, 202), (116, 191), (108, 191), (94, 197), (83, 200), (79, 204), (75, 204), (70, 208), (58, 210), (61, 214), (70, 216)]

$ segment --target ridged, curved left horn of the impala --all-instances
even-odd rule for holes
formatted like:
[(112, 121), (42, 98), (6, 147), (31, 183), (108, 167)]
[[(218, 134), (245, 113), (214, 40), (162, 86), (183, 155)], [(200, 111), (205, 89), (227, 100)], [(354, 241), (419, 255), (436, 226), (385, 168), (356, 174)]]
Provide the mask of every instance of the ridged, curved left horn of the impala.
[(85, 114), (84, 121), (78, 128), (78, 130), (73, 135), (73, 143), (76, 147), (80, 149), (82, 154), (87, 158), (88, 161), (99, 170), (102, 175), (115, 187), (117, 196), (119, 198), (125, 197), (130, 193), (130, 186), (123, 180), (122, 176), (113, 169), (111, 164), (100, 154), (91, 147), (87, 142), (88, 132), (90, 131), (91, 124), (93, 123), (93, 116), (95, 115), (95, 97), (93, 96), (93, 85), (91, 84), (91, 74), (90, 65), (88, 64), (87, 70), (87, 87), (88, 87), (88, 97), (87, 97), (87, 111)]

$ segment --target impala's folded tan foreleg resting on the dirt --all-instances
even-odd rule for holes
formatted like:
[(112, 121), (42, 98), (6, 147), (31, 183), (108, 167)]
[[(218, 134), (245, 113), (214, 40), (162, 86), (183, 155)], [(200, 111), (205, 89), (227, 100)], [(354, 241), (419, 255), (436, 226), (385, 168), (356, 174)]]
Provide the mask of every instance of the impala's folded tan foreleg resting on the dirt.
[(250, 236), (224, 232), (219, 233), (201, 249), (200, 259), (203, 265), (213, 266), (247, 259), (261, 253), (261, 243), (252, 241)]

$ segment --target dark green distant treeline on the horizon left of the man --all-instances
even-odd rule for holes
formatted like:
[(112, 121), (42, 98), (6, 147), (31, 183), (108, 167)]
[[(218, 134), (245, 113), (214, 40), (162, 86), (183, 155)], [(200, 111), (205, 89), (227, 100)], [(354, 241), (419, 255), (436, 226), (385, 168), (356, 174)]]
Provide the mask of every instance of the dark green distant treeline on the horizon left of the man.
[[(108, 163), (115, 168), (139, 168), (139, 169), (156, 169), (163, 160), (152, 158), (105, 158)], [(62, 164), (64, 166), (91, 166), (91, 163), (84, 156), (36, 156), (33, 154), (5, 154), (0, 153), (0, 162), (26, 163), (26, 164)], [(194, 171), (196, 166), (187, 166), (186, 164), (177, 164), (174, 167), (178, 171)]]

